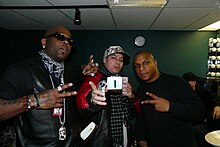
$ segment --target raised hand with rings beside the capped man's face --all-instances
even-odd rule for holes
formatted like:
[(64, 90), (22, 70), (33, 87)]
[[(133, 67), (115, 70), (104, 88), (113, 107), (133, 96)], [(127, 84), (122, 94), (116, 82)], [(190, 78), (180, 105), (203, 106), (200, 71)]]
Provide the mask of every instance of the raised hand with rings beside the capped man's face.
[(94, 76), (98, 72), (98, 63), (94, 63), (93, 55), (89, 57), (87, 65), (82, 65), (82, 73), (84, 75)]

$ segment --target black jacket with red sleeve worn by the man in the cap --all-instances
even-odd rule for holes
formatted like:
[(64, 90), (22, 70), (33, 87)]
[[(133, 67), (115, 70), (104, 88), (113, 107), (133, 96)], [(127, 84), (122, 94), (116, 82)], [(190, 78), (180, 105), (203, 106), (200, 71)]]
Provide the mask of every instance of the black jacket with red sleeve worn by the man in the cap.
[[(84, 78), (83, 84), (77, 94), (77, 107), (82, 116), (82, 129), (85, 128), (90, 122), (94, 122), (97, 125), (95, 131), (86, 140), (82, 140), (82, 144), (85, 147), (115, 147), (112, 143), (111, 137), (111, 103), (110, 96), (106, 93), (107, 105), (100, 107), (90, 102), (91, 99), (91, 86), (89, 81), (92, 81), (95, 85), (99, 81), (105, 79), (105, 74), (98, 72), (95, 77)], [(118, 95), (120, 96), (120, 95)], [(129, 99), (128, 99), (129, 100)], [(132, 127), (132, 112), (135, 112), (133, 102), (128, 101), (130, 118), (126, 118), (126, 128), (128, 132), (128, 147), (133, 143), (133, 127)]]

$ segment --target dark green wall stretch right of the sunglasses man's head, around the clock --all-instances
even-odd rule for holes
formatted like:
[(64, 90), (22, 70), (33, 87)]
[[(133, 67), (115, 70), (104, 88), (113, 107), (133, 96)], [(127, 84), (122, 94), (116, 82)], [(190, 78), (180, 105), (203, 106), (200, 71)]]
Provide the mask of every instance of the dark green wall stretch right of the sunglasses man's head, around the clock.
[[(143, 35), (147, 43), (143, 48), (135, 47), (133, 39)], [(72, 62), (85, 63), (90, 54), (101, 61), (106, 48), (110, 45), (121, 45), (131, 55), (142, 49), (155, 54), (159, 69), (163, 72), (181, 76), (192, 71), (200, 77), (206, 77), (208, 39), (215, 37), (214, 32), (178, 32), (178, 31), (75, 31), (76, 51)], [(82, 54), (83, 53), (83, 54)], [(136, 87), (132, 64), (125, 67)]]

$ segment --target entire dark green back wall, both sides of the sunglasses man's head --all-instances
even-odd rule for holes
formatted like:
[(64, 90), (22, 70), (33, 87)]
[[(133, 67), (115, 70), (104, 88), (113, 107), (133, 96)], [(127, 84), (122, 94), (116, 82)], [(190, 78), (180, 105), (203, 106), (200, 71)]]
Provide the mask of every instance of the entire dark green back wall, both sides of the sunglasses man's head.
[[(13, 31), (0, 29), (1, 39), (1, 73), (17, 61), (27, 59), (41, 49), (44, 31)], [(208, 39), (219, 37), (218, 32), (196, 31), (74, 31), (73, 52), (69, 62), (76, 65), (87, 63), (91, 54), (101, 64), (104, 50), (112, 45), (120, 45), (131, 55), (130, 64), (125, 66), (125, 73), (136, 89), (138, 81), (133, 71), (133, 57), (140, 50), (154, 53), (162, 72), (182, 76), (192, 71), (201, 78), (206, 78), (208, 59)], [(134, 38), (142, 35), (146, 44), (139, 48)]]

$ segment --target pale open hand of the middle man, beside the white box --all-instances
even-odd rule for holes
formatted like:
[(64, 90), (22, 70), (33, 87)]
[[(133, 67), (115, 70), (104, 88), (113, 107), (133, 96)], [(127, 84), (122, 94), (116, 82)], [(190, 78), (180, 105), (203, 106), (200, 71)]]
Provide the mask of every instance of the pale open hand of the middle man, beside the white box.
[(91, 102), (94, 105), (101, 105), (101, 106), (107, 105), (107, 103), (105, 102), (105, 100), (106, 100), (105, 93), (103, 93), (102, 91), (98, 90), (93, 82), (89, 82), (89, 84), (90, 84), (90, 86), (92, 88)]

